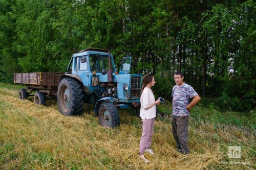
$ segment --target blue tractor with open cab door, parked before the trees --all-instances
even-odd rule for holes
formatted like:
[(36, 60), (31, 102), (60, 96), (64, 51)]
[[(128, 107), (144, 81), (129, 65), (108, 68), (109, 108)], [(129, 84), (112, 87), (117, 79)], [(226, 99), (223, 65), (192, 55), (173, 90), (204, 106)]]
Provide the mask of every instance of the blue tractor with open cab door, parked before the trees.
[(130, 74), (131, 61), (124, 57), (117, 72), (110, 51), (87, 48), (74, 54), (58, 82), (60, 112), (79, 115), (83, 103), (93, 103), (100, 125), (108, 128), (120, 125), (117, 108), (131, 107), (139, 115), (142, 76)]

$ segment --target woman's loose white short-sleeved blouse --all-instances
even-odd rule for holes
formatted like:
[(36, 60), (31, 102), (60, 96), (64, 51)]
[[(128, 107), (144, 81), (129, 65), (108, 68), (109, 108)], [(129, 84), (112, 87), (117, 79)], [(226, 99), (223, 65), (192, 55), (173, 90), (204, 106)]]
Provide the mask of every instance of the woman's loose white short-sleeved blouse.
[(155, 96), (151, 90), (151, 88), (145, 87), (141, 96), (140, 96), (140, 117), (141, 119), (150, 119), (156, 117), (156, 105), (152, 106), (150, 109), (145, 110), (144, 108), (148, 108), (155, 101)]

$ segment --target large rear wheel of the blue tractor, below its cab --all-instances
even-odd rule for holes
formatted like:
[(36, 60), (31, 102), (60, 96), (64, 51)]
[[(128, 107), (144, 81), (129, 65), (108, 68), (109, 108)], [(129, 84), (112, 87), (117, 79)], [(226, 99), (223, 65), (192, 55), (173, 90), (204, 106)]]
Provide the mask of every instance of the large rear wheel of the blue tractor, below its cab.
[(58, 86), (59, 111), (63, 115), (80, 115), (83, 93), (81, 84), (72, 78), (63, 78)]

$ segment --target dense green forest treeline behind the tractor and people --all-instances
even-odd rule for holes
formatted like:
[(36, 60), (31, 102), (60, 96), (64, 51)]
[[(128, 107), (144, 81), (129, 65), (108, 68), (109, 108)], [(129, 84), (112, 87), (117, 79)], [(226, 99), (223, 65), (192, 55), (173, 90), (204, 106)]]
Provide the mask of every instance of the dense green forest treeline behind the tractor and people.
[(72, 54), (110, 48), (116, 67), (152, 72), (171, 99), (173, 73), (220, 109), (256, 106), (255, 1), (0, 0), (0, 81), (66, 71)]

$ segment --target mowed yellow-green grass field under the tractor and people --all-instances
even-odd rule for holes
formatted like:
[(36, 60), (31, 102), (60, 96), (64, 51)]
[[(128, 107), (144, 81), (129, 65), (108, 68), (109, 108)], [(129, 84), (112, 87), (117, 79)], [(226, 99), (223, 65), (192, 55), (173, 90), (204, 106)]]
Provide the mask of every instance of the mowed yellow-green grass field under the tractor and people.
[[(138, 157), (142, 122), (119, 110), (121, 125), (106, 129), (84, 104), (81, 116), (63, 116), (56, 100), (46, 106), (18, 99), (24, 86), (0, 83), (0, 169), (255, 169), (255, 131), (190, 118), (189, 155), (176, 152), (171, 118), (158, 118), (152, 141), (155, 156)], [(198, 111), (197, 107), (192, 111)], [(207, 114), (207, 113), (205, 113)], [(241, 146), (241, 158), (228, 158)]]

